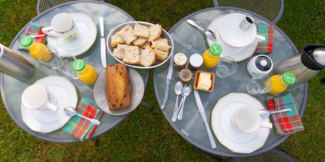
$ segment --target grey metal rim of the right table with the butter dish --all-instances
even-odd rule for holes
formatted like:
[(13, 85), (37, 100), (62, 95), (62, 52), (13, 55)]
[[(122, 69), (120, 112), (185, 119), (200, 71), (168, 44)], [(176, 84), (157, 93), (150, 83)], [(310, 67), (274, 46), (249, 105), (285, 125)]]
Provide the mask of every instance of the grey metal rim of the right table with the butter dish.
[[(276, 24), (274, 24), (273, 22), (271, 22), (270, 20), (268, 20), (267, 18), (261, 16), (261, 15), (258, 15), (256, 13), (253, 13), (251, 11), (248, 11), (248, 10), (244, 10), (244, 9), (239, 9), (239, 8), (234, 8), (234, 7), (213, 7), (213, 8), (207, 8), (207, 9), (203, 9), (203, 10), (200, 10), (200, 11), (197, 11), (197, 12), (194, 12), (190, 15), (187, 15), (186, 17), (184, 17), (183, 19), (181, 19), (180, 21), (178, 21), (169, 31), (168, 33), (171, 34), (171, 32), (180, 24), (182, 23), (183, 21), (187, 20), (189, 17), (192, 17), (193, 15), (197, 15), (199, 13), (202, 13), (202, 12), (205, 12), (205, 11), (210, 11), (210, 10), (219, 10), (219, 9), (231, 9), (231, 10), (239, 10), (239, 11), (243, 11), (243, 12), (247, 12), (247, 13), (250, 13), (254, 16), (257, 16), (265, 21), (267, 21), (268, 23), (274, 25), (275, 28), (277, 28), (279, 30), (279, 32), (281, 34), (283, 34), (283, 36), (287, 39), (287, 41), (290, 43), (290, 45), (294, 48), (295, 52), (298, 53), (298, 49), (296, 48), (296, 46), (293, 44), (293, 42), (289, 39), (289, 37), (279, 28), (276, 26)], [(156, 73), (157, 72), (157, 69), (154, 68), (153, 70), (153, 85), (154, 85), (154, 92), (155, 92), (155, 95), (156, 95), (156, 100), (159, 104), (159, 107), (162, 105), (161, 101), (160, 101), (160, 97), (159, 97), (159, 93), (157, 91), (157, 81), (156, 81)], [(300, 110), (300, 113), (299, 115), (302, 117), (303, 116), (303, 113), (305, 111), (305, 107), (306, 107), (306, 104), (307, 104), (307, 94), (308, 94), (308, 84), (307, 82), (304, 84), (305, 85), (305, 94), (304, 94), (304, 101), (303, 101), (303, 106), (302, 106), (302, 109)], [(277, 142), (275, 142), (274, 144), (270, 145), (269, 147), (266, 147), (266, 148), (263, 148), (263, 149), (260, 149), (260, 150), (256, 150), (252, 153), (247, 153), (247, 154), (243, 154), (243, 153), (224, 153), (224, 152), (220, 152), (220, 151), (216, 151), (216, 150), (213, 150), (211, 148), (208, 148), (208, 147), (205, 147), (205, 146), (202, 146), (201, 144), (198, 144), (197, 142), (189, 139), (188, 137), (186, 137), (177, 127), (176, 125), (173, 123), (173, 121), (168, 118), (166, 112), (164, 110), (161, 110), (165, 116), (165, 118), (168, 120), (168, 123), (173, 127), (173, 129), (181, 136), (183, 137), (186, 141), (190, 142), (191, 144), (193, 144), (194, 146), (204, 150), (204, 151), (207, 151), (209, 153), (213, 153), (213, 154), (218, 154), (218, 155), (222, 155), (222, 156), (229, 156), (229, 157), (244, 157), (244, 156), (252, 156), (252, 155), (256, 155), (256, 154), (259, 154), (259, 153), (263, 153), (263, 152), (266, 152), (268, 150), (271, 150), (272, 148), (276, 147), (277, 145), (281, 144), (284, 140), (286, 140), (290, 135), (285, 135), (283, 136), (280, 140), (278, 140)]]

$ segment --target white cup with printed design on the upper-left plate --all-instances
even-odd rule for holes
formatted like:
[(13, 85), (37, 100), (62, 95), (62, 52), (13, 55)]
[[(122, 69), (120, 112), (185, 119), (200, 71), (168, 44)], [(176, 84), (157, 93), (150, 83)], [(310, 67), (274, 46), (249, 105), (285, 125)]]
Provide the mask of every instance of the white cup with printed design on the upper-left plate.
[(72, 16), (67, 13), (55, 15), (51, 26), (42, 28), (42, 31), (51, 36), (59, 36), (67, 42), (75, 41), (79, 37), (77, 25)]

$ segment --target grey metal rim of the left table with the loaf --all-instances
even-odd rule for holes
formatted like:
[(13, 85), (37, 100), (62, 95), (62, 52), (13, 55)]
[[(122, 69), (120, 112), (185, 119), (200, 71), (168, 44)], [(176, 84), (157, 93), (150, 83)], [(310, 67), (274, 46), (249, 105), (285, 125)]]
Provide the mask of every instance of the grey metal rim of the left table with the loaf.
[[(19, 35), (29, 26), (29, 24), (31, 22), (33, 22), (34, 20), (36, 20), (37, 18), (39, 18), (40, 16), (42, 16), (43, 14), (57, 8), (57, 7), (60, 7), (60, 6), (64, 6), (64, 5), (69, 5), (69, 4), (74, 4), (74, 3), (98, 3), (98, 4), (102, 4), (102, 5), (106, 5), (106, 6), (110, 6), (120, 12), (122, 12), (123, 14), (125, 14), (129, 19), (131, 19), (132, 21), (135, 21), (135, 19), (130, 16), (129, 14), (127, 14), (125, 11), (123, 11), (122, 9), (114, 6), (114, 5), (111, 5), (111, 4), (108, 4), (108, 3), (105, 3), (105, 2), (98, 2), (98, 1), (89, 1), (89, 0), (84, 0), (84, 1), (74, 1), (74, 2), (68, 2), (68, 3), (64, 3), (64, 4), (61, 4), (61, 5), (58, 5), (58, 6), (55, 6), (53, 8), (50, 8), (44, 12), (42, 12), (40, 15), (37, 15), (36, 17), (34, 17), (33, 19), (31, 19), (17, 34), (16, 36), (14, 37), (13, 41), (11, 42), (11, 44), (9, 45), (9, 49), (12, 48), (13, 44), (15, 43), (16, 39), (19, 37)], [(149, 74), (148, 74), (149, 73)], [(49, 138), (49, 137), (46, 137), (46, 136), (42, 136), (40, 134), (37, 134), (36, 132), (30, 130), (28, 127), (25, 127), (24, 125), (22, 125), (17, 119), (16, 117), (13, 115), (13, 113), (10, 111), (9, 109), (9, 106), (7, 104), (7, 101), (6, 101), (6, 95), (4, 93), (4, 85), (3, 85), (3, 73), (0, 74), (0, 91), (1, 91), (1, 96), (2, 96), (2, 99), (3, 99), (3, 103), (6, 107), (6, 110), (7, 112), (9, 113), (10, 117), (15, 121), (15, 123), (21, 128), (23, 129), (25, 132), (29, 133), (30, 135), (34, 136), (34, 137), (37, 137), (37, 138), (40, 138), (40, 139), (43, 139), (43, 140), (46, 140), (46, 141), (50, 141), (50, 142), (58, 142), (58, 143), (68, 143), (68, 142), (79, 142), (79, 140), (77, 139), (55, 139), (55, 138)], [(148, 82), (148, 79), (149, 79), (149, 75), (150, 75), (150, 69), (147, 70), (147, 74), (146, 74), (146, 78), (145, 78), (145, 85), (147, 85), (147, 82)], [(128, 114), (125, 114), (123, 115), (120, 119), (116, 120), (112, 125), (110, 125), (110, 127), (107, 129), (107, 130), (104, 130), (104, 131), (101, 131), (99, 132), (98, 135), (96, 136), (93, 136), (93, 134), (91, 135), (90, 139), (91, 138), (95, 138), (95, 137), (99, 137), (101, 135), (103, 135), (104, 133), (110, 131), (112, 128), (116, 127), (118, 124), (120, 124), (128, 115)]]

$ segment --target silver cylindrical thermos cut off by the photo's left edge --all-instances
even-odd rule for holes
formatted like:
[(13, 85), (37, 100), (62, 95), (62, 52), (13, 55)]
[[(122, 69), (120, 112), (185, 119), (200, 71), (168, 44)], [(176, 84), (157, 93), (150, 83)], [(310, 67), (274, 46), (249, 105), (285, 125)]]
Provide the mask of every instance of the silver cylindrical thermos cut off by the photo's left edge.
[(18, 80), (26, 80), (34, 71), (34, 65), (28, 60), (0, 44), (0, 72)]

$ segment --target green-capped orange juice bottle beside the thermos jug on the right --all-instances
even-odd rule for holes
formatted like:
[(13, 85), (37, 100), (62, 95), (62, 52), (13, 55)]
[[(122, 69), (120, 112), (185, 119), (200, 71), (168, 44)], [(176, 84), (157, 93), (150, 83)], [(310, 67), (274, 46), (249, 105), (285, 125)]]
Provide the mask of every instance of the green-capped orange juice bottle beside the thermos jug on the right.
[(287, 89), (288, 86), (296, 83), (296, 76), (292, 72), (285, 72), (282, 75), (273, 75), (270, 77), (272, 88), (269, 94), (278, 94)]

